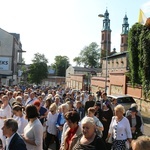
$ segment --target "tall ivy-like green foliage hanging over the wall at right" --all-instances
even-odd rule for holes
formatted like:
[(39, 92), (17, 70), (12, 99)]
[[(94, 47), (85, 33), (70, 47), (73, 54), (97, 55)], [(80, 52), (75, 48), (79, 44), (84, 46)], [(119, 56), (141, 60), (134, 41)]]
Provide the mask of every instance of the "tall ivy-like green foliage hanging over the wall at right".
[(144, 96), (150, 96), (150, 29), (136, 23), (128, 37), (130, 79), (133, 86), (142, 84)]

